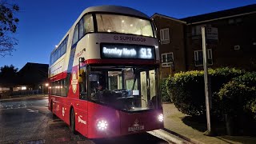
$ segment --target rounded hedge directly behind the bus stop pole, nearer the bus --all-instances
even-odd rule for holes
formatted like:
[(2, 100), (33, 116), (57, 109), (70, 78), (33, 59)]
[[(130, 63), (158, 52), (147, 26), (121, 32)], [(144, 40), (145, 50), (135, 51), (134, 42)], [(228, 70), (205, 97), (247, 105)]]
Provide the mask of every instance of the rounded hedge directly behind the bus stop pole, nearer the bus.
[[(212, 94), (218, 92), (222, 85), (229, 82), (232, 78), (244, 74), (244, 70), (234, 68), (210, 69)], [(183, 114), (202, 115), (206, 114), (206, 100), (204, 88), (203, 71), (193, 70), (174, 74), (166, 82), (168, 94), (174, 105)], [(218, 97), (213, 95), (213, 110), (218, 106)], [(216, 112), (217, 113), (217, 112)]]

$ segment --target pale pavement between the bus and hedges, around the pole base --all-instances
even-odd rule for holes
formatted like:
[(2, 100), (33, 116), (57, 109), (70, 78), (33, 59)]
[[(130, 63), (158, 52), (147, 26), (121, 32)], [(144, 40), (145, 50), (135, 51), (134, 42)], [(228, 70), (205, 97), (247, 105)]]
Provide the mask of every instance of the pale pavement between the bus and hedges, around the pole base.
[(185, 139), (188, 142), (192, 143), (221, 143), (221, 144), (230, 144), (230, 143), (248, 143), (255, 144), (256, 138), (250, 136), (215, 136), (210, 137), (203, 134), (206, 126), (202, 126), (202, 123), (198, 122), (198, 126), (202, 126), (201, 129), (192, 127), (185, 121), (187, 119), (186, 114), (178, 111), (174, 104), (166, 103), (163, 104), (164, 110), (164, 126), (165, 130), (174, 134), (180, 138)]

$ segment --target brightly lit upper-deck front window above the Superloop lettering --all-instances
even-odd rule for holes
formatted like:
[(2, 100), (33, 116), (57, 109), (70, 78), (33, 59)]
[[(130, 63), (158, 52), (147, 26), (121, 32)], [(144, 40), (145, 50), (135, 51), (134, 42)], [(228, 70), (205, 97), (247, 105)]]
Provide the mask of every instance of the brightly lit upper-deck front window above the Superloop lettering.
[(149, 20), (116, 14), (96, 14), (98, 32), (154, 37)]

